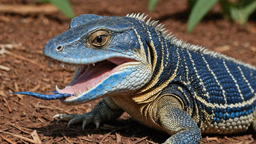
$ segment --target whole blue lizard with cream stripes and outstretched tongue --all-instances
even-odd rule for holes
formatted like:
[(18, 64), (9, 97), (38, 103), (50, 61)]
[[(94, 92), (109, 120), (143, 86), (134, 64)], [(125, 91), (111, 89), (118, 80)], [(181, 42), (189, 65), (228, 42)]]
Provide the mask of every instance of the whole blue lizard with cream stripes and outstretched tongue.
[(144, 15), (73, 18), (43, 49), (49, 67), (76, 67), (72, 81), (64, 89), (56, 85), (54, 94), (13, 94), (68, 105), (101, 97), (91, 112), (54, 118), (98, 128), (127, 112), (170, 134), (164, 143), (200, 143), (202, 133), (256, 131), (255, 66), (178, 40)]

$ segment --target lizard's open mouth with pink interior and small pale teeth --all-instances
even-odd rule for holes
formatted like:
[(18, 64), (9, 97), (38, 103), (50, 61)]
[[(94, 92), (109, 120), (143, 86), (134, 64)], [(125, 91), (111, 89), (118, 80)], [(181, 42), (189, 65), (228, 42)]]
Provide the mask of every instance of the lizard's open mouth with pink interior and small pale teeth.
[[(49, 61), (49, 66), (51, 66), (51, 60)], [(131, 64), (131, 62), (136, 61), (134, 61), (134, 59), (114, 57), (93, 64), (76, 66), (77, 70), (73, 80), (64, 89), (59, 89), (56, 85), (56, 92), (60, 94), (65, 93), (73, 95), (66, 97), (65, 99), (72, 99), (72, 97), (81, 96), (108, 78), (109, 75)], [(60, 64), (60, 62), (56, 63), (57, 65)]]

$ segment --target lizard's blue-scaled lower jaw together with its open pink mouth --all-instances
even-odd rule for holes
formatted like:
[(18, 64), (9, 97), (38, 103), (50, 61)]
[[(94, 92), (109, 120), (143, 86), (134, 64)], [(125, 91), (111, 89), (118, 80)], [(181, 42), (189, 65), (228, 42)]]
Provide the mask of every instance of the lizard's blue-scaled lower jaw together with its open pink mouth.
[[(51, 66), (51, 61), (49, 60)], [(56, 62), (57, 65), (61, 64)], [(66, 104), (79, 104), (100, 97), (108, 92), (124, 89), (134, 68), (141, 62), (127, 58), (111, 58), (93, 64), (76, 66), (76, 74), (64, 89), (56, 86), (58, 93), (74, 94), (61, 99)], [(65, 64), (67, 65), (67, 64)], [(126, 79), (125, 79), (126, 78)], [(126, 82), (126, 83), (125, 83)]]

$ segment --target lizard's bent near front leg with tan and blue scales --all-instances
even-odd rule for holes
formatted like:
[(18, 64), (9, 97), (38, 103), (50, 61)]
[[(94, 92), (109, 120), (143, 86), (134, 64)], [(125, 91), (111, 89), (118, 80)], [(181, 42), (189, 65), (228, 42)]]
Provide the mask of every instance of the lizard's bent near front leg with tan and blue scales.
[(160, 125), (172, 135), (164, 143), (200, 143), (202, 136), (199, 127), (181, 110), (181, 104), (175, 97), (162, 97), (157, 109)]

